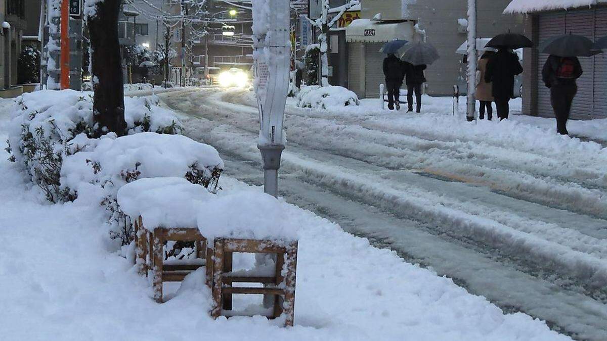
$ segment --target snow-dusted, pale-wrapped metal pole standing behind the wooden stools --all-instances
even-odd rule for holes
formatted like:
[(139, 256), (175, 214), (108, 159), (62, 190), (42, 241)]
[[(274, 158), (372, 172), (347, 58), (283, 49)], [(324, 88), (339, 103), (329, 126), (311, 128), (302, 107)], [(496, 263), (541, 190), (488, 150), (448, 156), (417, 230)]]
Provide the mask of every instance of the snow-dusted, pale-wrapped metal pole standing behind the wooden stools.
[(290, 6), (285, 0), (253, 4), (254, 87), (259, 107), (259, 148), (263, 159), (263, 188), (278, 196), (278, 169), (285, 149), (282, 123), (289, 87)]

